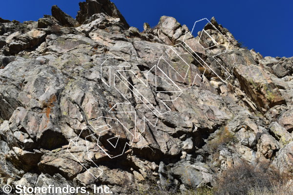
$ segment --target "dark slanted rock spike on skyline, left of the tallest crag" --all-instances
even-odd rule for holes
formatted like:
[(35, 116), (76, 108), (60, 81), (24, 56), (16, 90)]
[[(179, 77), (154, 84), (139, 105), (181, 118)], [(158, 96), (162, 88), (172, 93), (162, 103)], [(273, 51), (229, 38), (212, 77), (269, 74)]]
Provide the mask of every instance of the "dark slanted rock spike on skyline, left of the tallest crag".
[(58, 20), (63, 26), (73, 27), (78, 24), (71, 16), (64, 13), (57, 5), (53, 5), (51, 8), (52, 16)]

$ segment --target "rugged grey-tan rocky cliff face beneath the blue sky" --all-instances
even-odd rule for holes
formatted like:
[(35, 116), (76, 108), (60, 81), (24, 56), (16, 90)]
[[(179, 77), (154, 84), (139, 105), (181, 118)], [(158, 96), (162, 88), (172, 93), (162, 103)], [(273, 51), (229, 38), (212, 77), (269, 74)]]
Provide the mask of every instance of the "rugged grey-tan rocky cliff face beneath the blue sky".
[(140, 32), (109, 0), (80, 8), (0, 20), (1, 186), (185, 189), (242, 160), (293, 172), (293, 58), (240, 48), (214, 18), (199, 36), (166, 16)]

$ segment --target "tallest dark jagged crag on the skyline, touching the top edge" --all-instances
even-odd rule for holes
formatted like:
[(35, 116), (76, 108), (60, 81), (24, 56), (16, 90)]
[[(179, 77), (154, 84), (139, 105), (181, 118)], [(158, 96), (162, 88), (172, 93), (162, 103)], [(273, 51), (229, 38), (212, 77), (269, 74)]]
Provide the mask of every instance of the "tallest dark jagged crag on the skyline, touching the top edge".
[(77, 13), (76, 20), (80, 24), (87, 23), (85, 21), (94, 14), (105, 13), (113, 18), (119, 18), (125, 27), (129, 28), (125, 18), (110, 0), (86, 0), (86, 2), (80, 2), (79, 6), (80, 11)]

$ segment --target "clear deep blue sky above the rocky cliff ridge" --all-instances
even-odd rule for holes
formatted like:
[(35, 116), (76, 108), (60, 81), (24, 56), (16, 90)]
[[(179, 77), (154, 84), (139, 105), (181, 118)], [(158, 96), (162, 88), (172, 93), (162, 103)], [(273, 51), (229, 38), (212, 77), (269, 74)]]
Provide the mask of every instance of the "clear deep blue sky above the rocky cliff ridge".
[[(57, 4), (75, 18), (82, 0), (2, 0), (0, 17), (38, 20)], [(212, 16), (249, 49), (263, 56), (293, 56), (292, 0), (112, 0), (130, 26), (155, 26), (160, 17), (172, 16), (192, 28), (194, 21)]]

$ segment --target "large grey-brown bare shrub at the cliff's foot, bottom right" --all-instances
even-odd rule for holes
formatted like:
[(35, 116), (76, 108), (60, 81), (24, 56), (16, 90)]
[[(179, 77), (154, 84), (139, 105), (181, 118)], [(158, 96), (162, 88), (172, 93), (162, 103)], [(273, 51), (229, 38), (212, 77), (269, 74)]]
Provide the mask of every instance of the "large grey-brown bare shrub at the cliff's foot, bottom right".
[(249, 195), (251, 189), (271, 191), (285, 181), (269, 162), (243, 163), (227, 169), (216, 181), (215, 195)]

